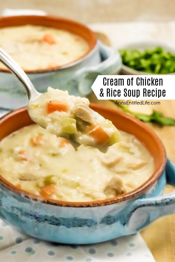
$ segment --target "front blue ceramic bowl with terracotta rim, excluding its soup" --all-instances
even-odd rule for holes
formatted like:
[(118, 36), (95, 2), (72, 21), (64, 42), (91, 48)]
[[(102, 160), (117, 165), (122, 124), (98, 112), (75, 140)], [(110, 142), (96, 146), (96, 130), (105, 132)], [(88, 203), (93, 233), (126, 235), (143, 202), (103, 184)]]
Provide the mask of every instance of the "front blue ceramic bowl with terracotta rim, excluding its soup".
[[(15, 187), (0, 176), (0, 217), (22, 233), (66, 244), (90, 244), (134, 234), (153, 220), (175, 212), (175, 194), (163, 195), (166, 183), (175, 185), (175, 168), (164, 147), (144, 123), (114, 109), (91, 104), (120, 130), (134, 134), (150, 151), (155, 172), (140, 187), (112, 199), (63, 202)], [(26, 108), (0, 120), (0, 139), (32, 123)]]

